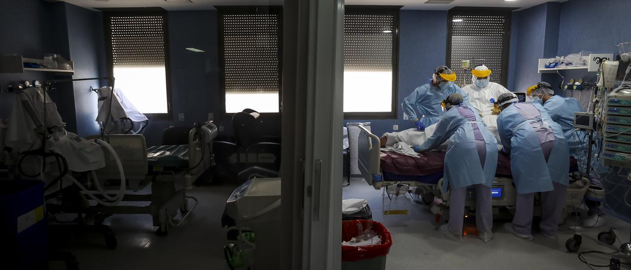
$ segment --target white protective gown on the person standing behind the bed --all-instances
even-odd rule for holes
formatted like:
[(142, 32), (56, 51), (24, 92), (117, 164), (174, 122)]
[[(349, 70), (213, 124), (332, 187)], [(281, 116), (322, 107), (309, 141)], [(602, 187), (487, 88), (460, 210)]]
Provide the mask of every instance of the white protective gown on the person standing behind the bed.
[(469, 103), (482, 115), (482, 121), (487, 124), (488, 131), (495, 136), (497, 141), (500, 141), (500, 136), (497, 132), (497, 115), (491, 115), (493, 103), (490, 100), (491, 98), (497, 100), (497, 97), (503, 93), (510, 93), (510, 91), (499, 83), (493, 83), (492, 81), (485, 88), (480, 88), (472, 83), (464, 86), (463, 91), (469, 96)]

